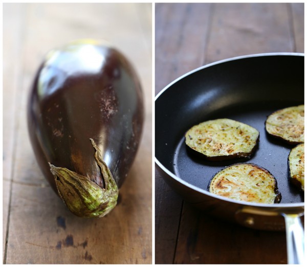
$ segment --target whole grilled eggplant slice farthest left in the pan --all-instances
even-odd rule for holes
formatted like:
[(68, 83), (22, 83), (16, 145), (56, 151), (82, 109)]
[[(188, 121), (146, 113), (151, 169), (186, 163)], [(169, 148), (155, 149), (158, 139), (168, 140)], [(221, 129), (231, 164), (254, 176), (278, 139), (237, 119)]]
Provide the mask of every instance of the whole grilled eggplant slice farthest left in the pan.
[(249, 157), (258, 141), (255, 128), (228, 118), (195, 125), (185, 135), (188, 147), (208, 160)]

